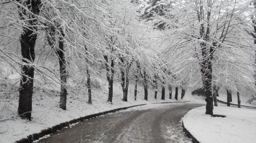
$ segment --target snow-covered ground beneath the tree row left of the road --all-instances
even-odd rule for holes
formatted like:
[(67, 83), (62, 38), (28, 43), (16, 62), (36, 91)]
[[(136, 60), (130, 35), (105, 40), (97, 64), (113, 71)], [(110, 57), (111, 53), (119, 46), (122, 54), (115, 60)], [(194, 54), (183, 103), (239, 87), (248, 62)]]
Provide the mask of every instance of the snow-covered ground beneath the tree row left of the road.
[[(10, 87), (10, 91), (12, 92), (8, 96), (5, 96), (5, 98), (0, 98), (0, 142), (15, 142), (16, 140), (25, 138), (30, 134), (38, 133), (43, 129), (47, 129), (63, 122), (68, 122), (73, 119), (88, 116), (93, 113), (138, 104), (176, 101), (168, 99), (167, 90), (165, 94), (165, 101), (160, 100), (160, 88), (157, 100), (154, 99), (153, 89), (148, 89), (148, 101), (146, 101), (144, 100), (144, 89), (142, 86), (138, 87), (137, 101), (134, 101), (134, 84), (131, 83), (129, 87), (128, 102), (123, 102), (121, 101), (121, 85), (119, 82), (116, 82), (114, 85), (113, 104), (110, 104), (106, 102), (108, 98), (108, 87), (106, 83), (103, 83), (103, 81), (102, 84), (104, 85), (102, 85), (100, 89), (93, 90), (93, 104), (87, 103), (87, 93), (77, 95), (72, 91), (68, 91), (67, 110), (62, 110), (58, 107), (58, 87), (50, 88), (51, 90), (49, 90), (49, 88), (44, 89), (35, 87), (32, 103), (32, 121), (22, 120), (17, 117), (18, 90), (17, 87), (12, 87), (13, 89)], [(175, 91), (173, 91), (173, 93), (174, 92)], [(180, 93), (181, 92), (179, 92), (179, 100)], [(190, 93), (191, 92), (187, 92), (188, 95)], [(188, 97), (187, 94), (185, 97)], [(187, 99), (185, 98), (182, 101), (187, 101)]]

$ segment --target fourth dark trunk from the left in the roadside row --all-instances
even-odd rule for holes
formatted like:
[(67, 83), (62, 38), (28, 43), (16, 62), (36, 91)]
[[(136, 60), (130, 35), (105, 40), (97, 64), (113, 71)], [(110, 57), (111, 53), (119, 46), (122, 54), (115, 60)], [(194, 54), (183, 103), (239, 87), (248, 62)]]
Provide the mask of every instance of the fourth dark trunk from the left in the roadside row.
[(111, 58), (111, 64), (109, 66), (108, 55), (104, 55), (105, 67), (106, 67), (106, 79), (109, 82), (109, 97), (108, 102), (112, 103), (113, 98), (113, 82), (114, 82), (114, 59)]

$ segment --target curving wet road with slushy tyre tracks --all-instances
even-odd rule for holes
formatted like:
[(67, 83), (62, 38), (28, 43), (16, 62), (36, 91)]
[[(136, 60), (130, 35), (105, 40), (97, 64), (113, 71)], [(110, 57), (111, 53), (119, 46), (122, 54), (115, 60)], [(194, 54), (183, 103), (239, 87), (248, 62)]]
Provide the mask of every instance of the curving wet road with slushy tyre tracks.
[(191, 142), (181, 118), (202, 104), (167, 103), (138, 106), (84, 121), (38, 142)]

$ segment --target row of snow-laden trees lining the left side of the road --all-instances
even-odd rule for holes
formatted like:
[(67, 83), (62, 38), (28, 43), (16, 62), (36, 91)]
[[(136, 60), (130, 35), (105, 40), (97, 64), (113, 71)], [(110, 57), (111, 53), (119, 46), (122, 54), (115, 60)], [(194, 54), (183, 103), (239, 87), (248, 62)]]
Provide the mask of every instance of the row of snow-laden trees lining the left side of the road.
[(1, 64), (11, 66), (21, 76), (18, 115), (24, 119), (31, 120), (35, 81), (40, 85), (60, 84), (61, 109), (67, 109), (68, 91), (84, 94), (87, 90), (88, 103), (92, 104), (91, 77), (98, 76), (101, 67), (109, 84), (110, 103), (115, 76), (121, 82), (123, 101), (128, 100), (131, 77), (135, 100), (139, 82), (146, 100), (150, 85), (161, 85), (163, 100), (164, 84), (169, 85), (169, 98), (171, 85), (180, 86), (168, 81), (172, 75), (162, 68), (160, 50), (152, 42), (158, 30), (140, 21), (136, 3), (24, 0), (0, 4)]

